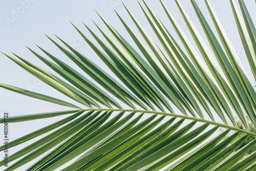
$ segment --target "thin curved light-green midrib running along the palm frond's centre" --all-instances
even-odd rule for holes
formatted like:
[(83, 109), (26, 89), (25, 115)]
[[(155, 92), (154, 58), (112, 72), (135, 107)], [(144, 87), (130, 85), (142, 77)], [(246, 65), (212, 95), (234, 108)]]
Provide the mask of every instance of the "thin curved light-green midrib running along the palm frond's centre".
[(236, 132), (239, 132), (239, 133), (247, 134), (248, 136), (252, 136), (252, 137), (256, 138), (255, 133), (252, 133), (252, 132), (247, 131), (247, 130), (242, 130), (242, 129), (240, 129), (238, 127), (235, 127), (235, 126), (230, 126), (230, 125), (227, 125), (227, 124), (218, 123), (218, 122), (215, 122), (215, 121), (209, 121), (209, 120), (205, 120), (205, 119), (201, 119), (201, 118), (195, 118), (195, 117), (190, 117), (190, 116), (185, 116), (185, 115), (177, 115), (177, 114), (174, 114), (174, 113), (146, 111), (146, 110), (133, 110), (133, 109), (83, 109), (83, 111), (113, 111), (113, 112), (117, 111), (117, 112), (136, 112), (136, 113), (166, 115), (166, 116), (172, 116), (172, 117), (176, 117), (176, 118), (183, 118), (183, 119), (189, 119), (189, 120), (193, 120), (193, 121), (208, 123), (208, 124), (211, 124), (211, 125), (223, 127), (225, 129), (233, 130), (233, 131), (236, 131)]

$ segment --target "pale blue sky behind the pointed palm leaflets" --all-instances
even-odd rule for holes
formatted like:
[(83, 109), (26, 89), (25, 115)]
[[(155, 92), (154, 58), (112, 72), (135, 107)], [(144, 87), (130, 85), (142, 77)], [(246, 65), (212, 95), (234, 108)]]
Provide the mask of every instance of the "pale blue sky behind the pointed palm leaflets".
[[(154, 35), (153, 30), (150, 25), (147, 23), (143, 12), (140, 9), (137, 1), (128, 1), (124, 0), (124, 4), (134, 13), (139, 22), (143, 25), (150, 35), (156, 40), (157, 44), (159, 41)], [(141, 1), (140, 1), (141, 2)], [(166, 26), (169, 32), (177, 40), (179, 45), (181, 42), (177, 34), (175, 33), (172, 25), (169, 23), (167, 16), (165, 15), (161, 4), (158, 1), (146, 0), (148, 5), (155, 11), (158, 17), (161, 19), (162, 23)], [(184, 20), (175, 4), (174, 1), (163, 0), (169, 11), (174, 15), (177, 22), (182, 27), (186, 35), (192, 40), (191, 35), (189, 34), (188, 29), (185, 26)], [(214, 27), (211, 22), (210, 16), (207, 12), (207, 8), (202, 0), (196, 0), (200, 9), (209, 25)], [(100, 32), (97, 30), (96, 26), (93, 24), (93, 19), (101, 28), (103, 28), (106, 33), (108, 29), (101, 22), (101, 19), (98, 17), (96, 12), (99, 12), (124, 38), (127, 38), (127, 41), (133, 42), (129, 34), (125, 31), (124, 27), (121, 25), (117, 15), (115, 14), (113, 8), (123, 17), (125, 22), (132, 27), (133, 30), (136, 30), (136, 26), (133, 24), (131, 18), (125, 11), (124, 7), (121, 5), (118, 0), (95, 0), (95, 1), (3, 1), (0, 0), (0, 50), (11, 55), (11, 52), (29, 60), (35, 65), (47, 69), (52, 72), (47, 66), (36, 58), (25, 46), (28, 46), (32, 50), (35, 50), (39, 54), (43, 54), (35, 46), (38, 45), (51, 54), (55, 55), (64, 62), (69, 63), (72, 67), (75, 65), (52, 44), (52, 42), (45, 36), (45, 34), (52, 37), (54, 40), (57, 40), (54, 37), (54, 34), (68, 42), (70, 45), (73, 45), (76, 50), (86, 55), (88, 58), (97, 63), (98, 66), (103, 68), (106, 72), (110, 72), (104, 63), (99, 60), (99, 57), (91, 50), (91, 48), (86, 44), (86, 42), (79, 36), (78, 32), (70, 24), (72, 22), (76, 25), (84, 34), (88, 35), (92, 39), (90, 33), (83, 26), (85, 23), (89, 26), (100, 38), (102, 38)], [(247, 58), (245, 56), (243, 46), (240, 40), (240, 36), (236, 27), (236, 23), (233, 18), (232, 10), (229, 4), (229, 1), (223, 0), (210, 0), (211, 5), (214, 7), (215, 12), (219, 16), (219, 19), (226, 30), (234, 48), (237, 50), (240, 60), (242, 61), (245, 69), (248, 71), (248, 75), (252, 81), (253, 86), (255, 82), (252, 79), (252, 73), (250, 72)], [(252, 0), (245, 0), (247, 8), (252, 16), (253, 22), (256, 23), (256, 11), (255, 11), (255, 2)], [(193, 7), (190, 4), (189, 0), (181, 1), (183, 8), (189, 14), (190, 18), (193, 20), (194, 24), (198, 30), (203, 33), (202, 28), (200, 27), (199, 20), (193, 10)], [(216, 30), (214, 30), (216, 33)], [(141, 37), (138, 30), (136, 33)], [(203, 38), (206, 40), (204, 34)], [(92, 39), (95, 42), (94, 39)], [(59, 42), (59, 41), (58, 41)], [(105, 41), (104, 41), (105, 42)], [(195, 45), (194, 41), (193, 44)], [(207, 44), (208, 45), (208, 44)], [(209, 45), (208, 45), (209, 46)], [(182, 47), (183, 48), (183, 47)], [(138, 50), (138, 49), (137, 49)], [(184, 48), (183, 48), (184, 50)], [(198, 51), (199, 52), (199, 51)], [(44, 55), (46, 56), (46, 55)], [(48, 58), (49, 59), (49, 58)], [(79, 72), (79, 68), (76, 68)], [(111, 74), (116, 78), (113, 74)], [(118, 80), (118, 79), (117, 79)], [(53, 88), (47, 84), (39, 81), (34, 76), (18, 67), (13, 61), (8, 59), (3, 54), (0, 54), (0, 82), (10, 84), (12, 86), (34, 91), (37, 93), (42, 93), (50, 95), (62, 100), (66, 100), (77, 104), (73, 100), (67, 98), (65, 95), (55, 91)], [(57, 104), (41, 101), (24, 95), (20, 95), (6, 89), (0, 88), (0, 117), (3, 117), (4, 112), (9, 112), (10, 116), (19, 116), (35, 113), (45, 113), (45, 112), (54, 112), (54, 111), (64, 111), (71, 110), (68, 107), (60, 106)], [(121, 104), (121, 102), (120, 102)], [(79, 104), (78, 104), (79, 105)], [(175, 108), (174, 108), (175, 109)], [(34, 130), (37, 130), (41, 127), (44, 127), (50, 123), (53, 123), (63, 117), (44, 119), (44, 121), (36, 120), (24, 123), (15, 123), (10, 125), (10, 139), (14, 140), (18, 137), (26, 135)], [(1, 126), (2, 127), (2, 126)], [(1, 137), (1, 136), (0, 136)], [(40, 137), (36, 138), (38, 140)], [(32, 142), (32, 141), (31, 141)], [(30, 143), (31, 143), (30, 142)], [(29, 144), (29, 143), (27, 143)], [(23, 146), (14, 147), (11, 149), (11, 154), (20, 149)], [(0, 154), (1, 156), (3, 153)], [(32, 162), (33, 163), (33, 162)], [(25, 169), (26, 166), (20, 167), (20, 169)], [(0, 167), (0, 170), (3, 167)]]

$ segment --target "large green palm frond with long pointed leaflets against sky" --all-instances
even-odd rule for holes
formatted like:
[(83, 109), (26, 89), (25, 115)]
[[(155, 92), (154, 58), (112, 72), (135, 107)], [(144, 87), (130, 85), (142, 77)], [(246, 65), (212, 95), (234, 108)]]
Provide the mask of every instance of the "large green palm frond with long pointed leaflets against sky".
[[(248, 155), (256, 144), (256, 134), (251, 131), (256, 128), (256, 92), (214, 8), (205, 0), (218, 35), (215, 35), (214, 28), (210, 27), (197, 3), (191, 0), (207, 37), (206, 42), (181, 3), (176, 0), (196, 43), (197, 47), (194, 47), (162, 0), (160, 4), (182, 42), (181, 45), (146, 1), (142, 2), (138, 5), (155, 33), (153, 36), (158, 38), (159, 45), (150, 35), (150, 31), (142, 26), (125, 5), (124, 9), (137, 30), (132, 29), (121, 14), (117, 11), (115, 13), (134, 42), (123, 37), (98, 12), (103, 24), (110, 31), (110, 34), (106, 33), (94, 22), (105, 40), (100, 39), (86, 24), (83, 25), (95, 40), (89, 39), (86, 33), (72, 24), (111, 70), (111, 74), (58, 36), (56, 37), (60, 43), (50, 36), (47, 37), (82, 72), (39, 46), (37, 47), (52, 61), (28, 49), (59, 76), (16, 54), (12, 57), (4, 53), (24, 70), (82, 105), (76, 106), (71, 102), (0, 83), (0, 87), (19, 94), (79, 109), (16, 116), (8, 120), (1, 118), (0, 123), (6, 124), (8, 121), (33, 122), (35, 119), (70, 115), (11, 141), (9, 148), (44, 135), (12, 154), (9, 157), (11, 165), (5, 170), (19, 169), (35, 158), (37, 161), (27, 165), (27, 170), (256, 168), (256, 153)], [(239, 5), (243, 17), (236, 2), (230, 0), (250, 69), (256, 79), (255, 26), (245, 2), (239, 0)], [(197, 49), (201, 54), (197, 53)], [(84, 76), (84, 73), (91, 78)], [(249, 120), (246, 119), (247, 116)], [(245, 129), (238, 126), (237, 120)], [(249, 127), (250, 122), (253, 128)], [(219, 128), (225, 131), (217, 135)], [(229, 137), (225, 138), (227, 135)], [(251, 137), (253, 140), (240, 148)], [(4, 149), (5, 145), (1, 146), (1, 150)], [(46, 152), (47, 155), (39, 157)], [(66, 163), (69, 165), (64, 168), (62, 165)], [(0, 166), (3, 165), (4, 160)]]

